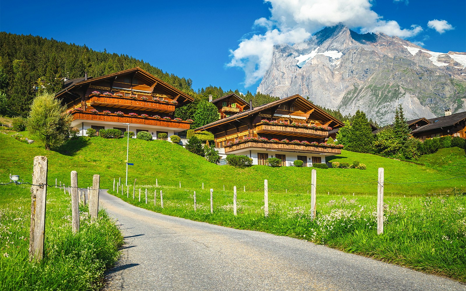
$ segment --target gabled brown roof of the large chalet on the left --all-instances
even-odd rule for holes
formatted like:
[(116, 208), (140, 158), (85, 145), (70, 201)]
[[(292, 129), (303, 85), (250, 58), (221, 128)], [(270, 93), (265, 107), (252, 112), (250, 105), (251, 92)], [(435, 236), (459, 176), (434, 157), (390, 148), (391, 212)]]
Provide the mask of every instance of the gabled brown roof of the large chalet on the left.
[(190, 95), (187, 95), (186, 93), (182, 92), (181, 90), (171, 86), (168, 83), (165, 83), (164, 81), (160, 80), (156, 76), (144, 71), (142, 68), (139, 68), (139, 67), (130, 68), (130, 69), (123, 70), (123, 71), (120, 71), (120, 72), (117, 72), (117, 73), (103, 75), (103, 76), (96, 77), (96, 78), (89, 78), (88, 77), (87, 80), (84, 80), (84, 78), (68, 80), (68, 81), (65, 82), (65, 88), (63, 88), (60, 92), (58, 92), (55, 95), (55, 97), (59, 97), (60, 95), (63, 95), (64, 93), (70, 91), (73, 88), (82, 87), (82, 86), (85, 86), (85, 85), (89, 85), (92, 82), (111, 79), (111, 78), (117, 77), (118, 75), (129, 74), (129, 73), (135, 73), (135, 74), (138, 73), (141, 76), (143, 76), (145, 79), (147, 79), (149, 81), (152, 81), (154, 83), (160, 84), (160, 86), (163, 87), (165, 90), (176, 93), (177, 95), (181, 95), (181, 96), (185, 97), (185, 99), (190, 100), (191, 102), (194, 101), (194, 99)]

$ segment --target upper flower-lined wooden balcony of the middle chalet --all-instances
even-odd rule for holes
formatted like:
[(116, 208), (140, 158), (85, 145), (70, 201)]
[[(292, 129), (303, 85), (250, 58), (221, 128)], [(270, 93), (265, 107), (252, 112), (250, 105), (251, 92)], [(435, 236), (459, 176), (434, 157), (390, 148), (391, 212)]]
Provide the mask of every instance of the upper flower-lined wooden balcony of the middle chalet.
[(305, 127), (294, 127), (277, 124), (260, 123), (256, 126), (255, 130), (258, 134), (267, 135), (301, 136), (318, 139), (326, 138), (329, 136), (329, 132), (324, 129), (309, 129)]

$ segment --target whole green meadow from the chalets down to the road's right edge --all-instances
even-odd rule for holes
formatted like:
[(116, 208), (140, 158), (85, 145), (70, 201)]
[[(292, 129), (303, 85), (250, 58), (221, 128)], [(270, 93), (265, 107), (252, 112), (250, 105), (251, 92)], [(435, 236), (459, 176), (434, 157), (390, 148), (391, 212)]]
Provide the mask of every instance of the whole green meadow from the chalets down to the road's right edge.
[[(463, 149), (442, 149), (423, 156), (418, 162), (424, 165), (342, 150), (331, 161), (359, 161), (367, 169), (316, 169), (314, 221), (309, 219), (308, 194), (312, 168), (235, 169), (209, 163), (171, 142), (133, 139), (129, 161), (134, 166), (129, 166), (127, 198), (124, 139), (80, 137), (57, 151), (47, 152), (38, 142), (26, 144), (0, 134), (0, 152), (0, 181), (6, 181), (9, 173), (29, 181), (34, 156), (46, 155), (50, 184), (55, 183), (55, 178), (69, 184), (70, 171), (76, 170), (78, 185), (88, 187), (92, 175), (100, 174), (101, 188), (149, 210), (297, 237), (466, 282), (466, 177), (454, 178), (466, 175)], [(379, 167), (385, 169), (385, 231), (381, 236), (376, 233)], [(123, 196), (112, 191), (113, 179), (118, 181), (119, 177)], [(155, 187), (156, 179), (158, 187)], [(269, 217), (263, 216), (264, 179), (268, 180)], [(133, 183), (136, 184), (134, 200)], [(233, 216), (233, 186), (238, 187), (237, 217)], [(210, 188), (214, 189), (213, 214), (210, 213)], [(149, 193), (147, 204), (145, 189)], [(164, 193), (164, 209), (160, 207), (160, 190)], [(154, 191), (157, 191), (155, 206)], [(196, 212), (194, 191), (198, 202)]]

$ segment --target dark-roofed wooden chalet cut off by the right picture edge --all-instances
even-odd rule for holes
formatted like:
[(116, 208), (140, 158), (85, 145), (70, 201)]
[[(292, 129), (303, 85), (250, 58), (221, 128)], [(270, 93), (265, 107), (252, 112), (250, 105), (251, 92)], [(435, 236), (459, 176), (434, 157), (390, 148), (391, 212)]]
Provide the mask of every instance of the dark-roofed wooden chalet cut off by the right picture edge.
[(411, 134), (421, 140), (443, 135), (466, 138), (466, 111), (451, 113), (451, 110), (445, 110), (445, 116), (429, 119), (429, 123), (413, 129)]

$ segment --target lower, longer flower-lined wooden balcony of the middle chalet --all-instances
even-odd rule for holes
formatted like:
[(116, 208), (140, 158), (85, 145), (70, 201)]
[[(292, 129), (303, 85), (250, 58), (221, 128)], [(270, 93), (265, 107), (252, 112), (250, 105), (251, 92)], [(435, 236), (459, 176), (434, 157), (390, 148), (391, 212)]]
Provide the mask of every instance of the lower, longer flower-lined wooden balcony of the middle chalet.
[(327, 148), (315, 145), (295, 144), (295, 143), (280, 143), (280, 142), (242, 142), (239, 144), (233, 144), (225, 146), (225, 153), (231, 153), (240, 149), (271, 149), (278, 151), (294, 151), (302, 153), (316, 153), (316, 154), (332, 154), (339, 155), (342, 153), (341, 149), (338, 148)]

